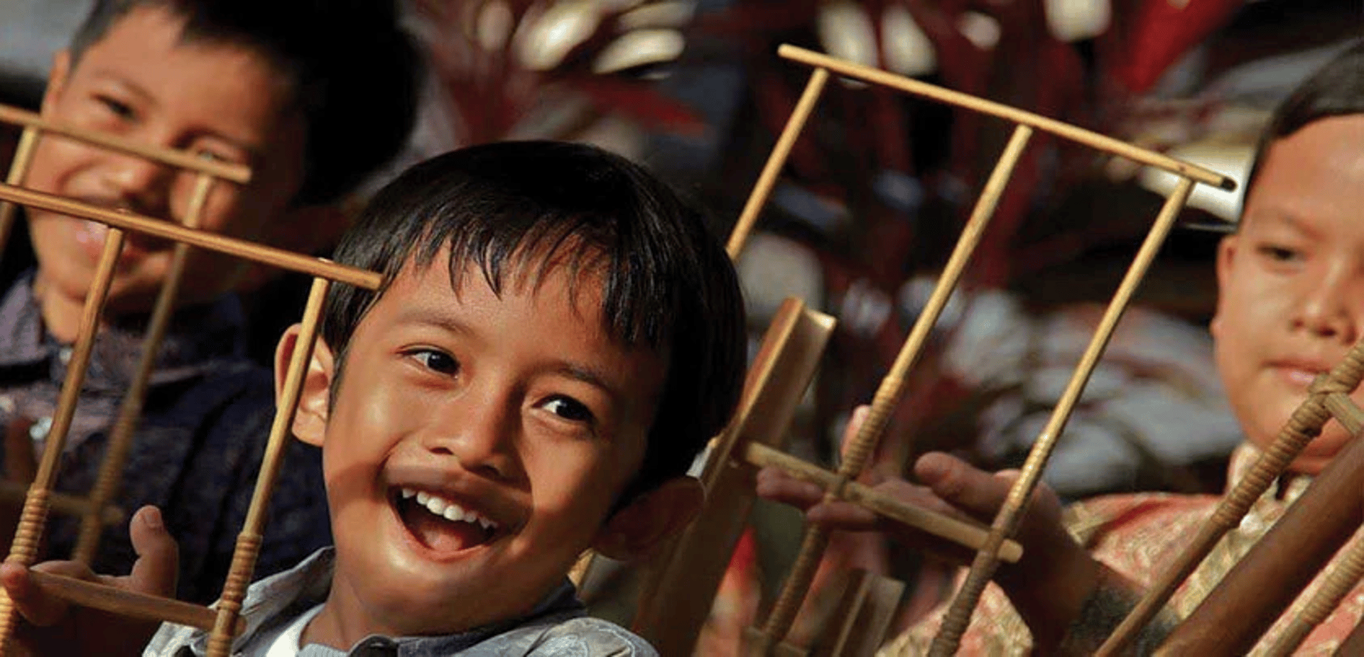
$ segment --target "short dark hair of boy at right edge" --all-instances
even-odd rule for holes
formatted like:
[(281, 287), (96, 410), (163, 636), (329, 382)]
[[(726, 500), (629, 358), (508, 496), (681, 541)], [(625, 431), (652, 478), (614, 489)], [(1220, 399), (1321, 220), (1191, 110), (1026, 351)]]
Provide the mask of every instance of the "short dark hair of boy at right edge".
[(1364, 114), (1364, 41), (1333, 57), (1274, 109), (1255, 146), (1251, 173), (1245, 177), (1245, 194), (1249, 195), (1264, 154), (1274, 142), (1322, 119), (1349, 114)]

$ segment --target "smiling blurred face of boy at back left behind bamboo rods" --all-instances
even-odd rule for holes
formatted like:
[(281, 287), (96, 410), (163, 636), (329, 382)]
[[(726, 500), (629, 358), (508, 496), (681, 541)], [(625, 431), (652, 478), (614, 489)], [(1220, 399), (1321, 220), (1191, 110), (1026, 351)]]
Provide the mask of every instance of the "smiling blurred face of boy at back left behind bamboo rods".
[[(157, 8), (119, 19), (78, 63), (59, 53), (42, 102), (46, 119), (168, 149), (250, 165), (247, 185), (218, 181), (201, 215), (217, 233), (259, 239), (280, 222), (301, 184), (304, 123), (289, 83), (259, 53), (209, 41), (181, 42), (183, 20)], [(196, 174), (79, 142), (40, 142), (26, 184), (90, 203), (183, 221)], [(53, 333), (71, 326), (104, 244), (101, 224), (30, 211), (37, 292)], [(172, 244), (128, 233), (109, 294), (113, 312), (146, 311)], [(196, 251), (181, 299), (232, 289), (240, 260)], [(74, 331), (71, 326), (70, 333)]]

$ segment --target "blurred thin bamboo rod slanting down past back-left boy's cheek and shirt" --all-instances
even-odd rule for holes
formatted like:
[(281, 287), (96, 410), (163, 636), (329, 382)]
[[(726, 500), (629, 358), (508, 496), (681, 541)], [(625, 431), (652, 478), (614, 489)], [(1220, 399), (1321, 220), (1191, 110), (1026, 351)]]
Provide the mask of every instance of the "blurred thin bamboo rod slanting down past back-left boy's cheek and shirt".
[[(190, 195), (190, 203), (184, 214), (186, 228), (199, 228), (199, 215), (209, 200), (213, 189), (213, 177), (201, 173)], [(104, 533), (102, 510), (119, 492), (123, 478), (123, 466), (128, 462), (128, 450), (132, 447), (132, 435), (142, 418), (142, 402), (147, 397), (147, 382), (151, 380), (151, 369), (157, 364), (161, 352), (161, 341), (165, 339), (166, 327), (170, 324), (170, 314), (175, 311), (176, 296), (180, 292), (180, 278), (184, 275), (184, 263), (190, 255), (190, 245), (179, 241), (170, 252), (170, 263), (166, 267), (165, 281), (157, 294), (151, 318), (147, 320), (146, 339), (142, 343), (142, 356), (138, 358), (138, 371), (128, 383), (119, 403), (119, 416), (113, 423), (109, 444), (104, 451), (104, 461), (95, 474), (94, 485), (90, 488), (90, 510), (80, 519), (80, 532), (76, 536), (76, 547), (72, 559), (89, 566), (94, 562), (95, 551), (100, 548), (100, 536)]]

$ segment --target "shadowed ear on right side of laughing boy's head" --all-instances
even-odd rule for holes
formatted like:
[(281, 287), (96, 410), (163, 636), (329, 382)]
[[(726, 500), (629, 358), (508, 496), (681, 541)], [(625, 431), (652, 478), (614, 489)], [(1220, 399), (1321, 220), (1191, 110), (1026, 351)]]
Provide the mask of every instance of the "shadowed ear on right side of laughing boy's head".
[(681, 532), (701, 511), (705, 491), (693, 477), (674, 477), (617, 511), (592, 541), (592, 549), (618, 560), (645, 556)]

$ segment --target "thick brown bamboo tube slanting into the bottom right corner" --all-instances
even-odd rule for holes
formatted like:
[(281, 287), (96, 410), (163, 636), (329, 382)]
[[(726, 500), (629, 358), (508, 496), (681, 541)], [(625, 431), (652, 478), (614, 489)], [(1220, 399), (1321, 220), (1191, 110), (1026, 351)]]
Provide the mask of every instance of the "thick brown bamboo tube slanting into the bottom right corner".
[[(1230, 656), (1249, 652), (1360, 526), (1364, 519), (1360, 472), (1364, 472), (1364, 440), (1350, 440), (1274, 528), (1174, 628), (1159, 654)], [(1353, 586), (1353, 582), (1348, 585)], [(1339, 596), (1349, 586), (1338, 592)], [(1334, 607), (1327, 607), (1320, 617)], [(1309, 631), (1311, 626), (1305, 630)], [(1303, 637), (1305, 634), (1301, 632)]]

